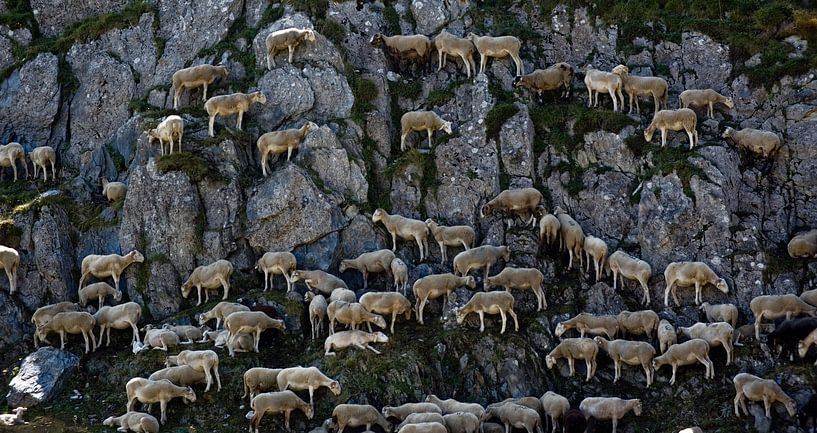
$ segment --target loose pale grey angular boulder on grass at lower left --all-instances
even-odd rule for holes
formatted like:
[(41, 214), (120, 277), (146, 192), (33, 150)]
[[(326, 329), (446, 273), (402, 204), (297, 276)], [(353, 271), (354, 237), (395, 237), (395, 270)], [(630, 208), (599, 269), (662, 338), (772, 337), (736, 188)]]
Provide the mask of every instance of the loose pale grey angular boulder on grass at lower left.
[(42, 347), (23, 360), (20, 372), (9, 383), (6, 401), (11, 407), (47, 402), (62, 391), (78, 366), (79, 357), (73, 353)]

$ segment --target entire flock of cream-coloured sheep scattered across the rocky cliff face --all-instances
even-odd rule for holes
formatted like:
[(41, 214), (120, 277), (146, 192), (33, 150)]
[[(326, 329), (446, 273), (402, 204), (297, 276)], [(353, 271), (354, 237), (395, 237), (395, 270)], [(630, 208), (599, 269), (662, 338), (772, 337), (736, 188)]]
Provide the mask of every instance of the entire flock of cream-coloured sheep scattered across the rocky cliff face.
[[(278, 51), (287, 50), (288, 59), (292, 62), (295, 48), (305, 42), (315, 41), (315, 33), (310, 29), (285, 29), (270, 34), (266, 39), (267, 67), (275, 67), (274, 56)], [(566, 63), (558, 63), (544, 70), (536, 70), (530, 74), (523, 74), (522, 61), (519, 57), (521, 42), (512, 36), (490, 37), (469, 34), (467, 38), (456, 37), (446, 31), (441, 32), (432, 41), (423, 35), (413, 36), (384, 36), (376, 34), (372, 44), (382, 47), (398, 61), (400, 59), (419, 59), (425, 64), (432, 53), (432, 45), (438, 53), (438, 70), (445, 65), (446, 58), (452, 56), (463, 61), (466, 74), (470, 77), (477, 73), (473, 55), (476, 51), (480, 55), (479, 73), (484, 73), (489, 57), (502, 58), (510, 56), (516, 65), (514, 87), (530, 89), (542, 94), (544, 91), (561, 90), (563, 97), (568, 97), (573, 79), (573, 67)], [(584, 82), (588, 90), (588, 106), (598, 105), (598, 94), (608, 93), (613, 99), (613, 109), (618, 110), (619, 101), (624, 108), (622, 91), (630, 97), (630, 111), (635, 101), (636, 111), (640, 111), (638, 98), (652, 96), (655, 104), (655, 113), (652, 122), (644, 131), (647, 141), (652, 139), (655, 130), (661, 130), (662, 146), (666, 145), (667, 131), (684, 130), (689, 137), (690, 148), (697, 142), (697, 115), (687, 107), (704, 106), (708, 114), (713, 115), (713, 106), (722, 103), (732, 107), (732, 101), (717, 92), (707, 90), (686, 90), (680, 95), (682, 108), (678, 110), (666, 108), (668, 94), (667, 82), (658, 77), (637, 77), (629, 75), (626, 66), (620, 65), (611, 72), (600, 71), (587, 66), (584, 68)], [(179, 98), (184, 89), (203, 87), (204, 107), (209, 115), (209, 134), (214, 135), (214, 120), (216, 116), (237, 114), (237, 127), (241, 128), (243, 114), (254, 103), (265, 104), (263, 93), (251, 94), (235, 93), (231, 95), (214, 96), (207, 98), (207, 87), (219, 77), (227, 77), (228, 71), (223, 66), (200, 65), (177, 71), (173, 75), (174, 108), (178, 108)], [(261, 155), (261, 168), (264, 176), (267, 175), (267, 158), (270, 155), (287, 153), (287, 160), (292, 152), (310, 131), (317, 128), (312, 122), (305, 123), (301, 128), (274, 131), (261, 135), (257, 146)], [(443, 120), (431, 111), (416, 111), (406, 113), (401, 119), (401, 150), (406, 148), (406, 138), (412, 131), (426, 131), (429, 145), (433, 131), (444, 130), (451, 132), (451, 122)], [(168, 116), (155, 129), (147, 131), (150, 142), (158, 140), (161, 153), (164, 154), (165, 144), (170, 145), (169, 153), (173, 153), (174, 146), (181, 150), (184, 131), (184, 122), (179, 116)], [(743, 129), (735, 131), (726, 128), (724, 138), (731, 138), (738, 145), (746, 147), (763, 157), (770, 157), (780, 147), (780, 139), (776, 134), (759, 130)], [(35, 176), (38, 167), (43, 169), (46, 178), (47, 163), (50, 162), (52, 173), (56, 160), (55, 152), (49, 147), (37, 148), (30, 154), (34, 162)], [(11, 143), (0, 147), (0, 167), (11, 166), (17, 178), (16, 161), (24, 161), (22, 146)], [(24, 163), (25, 165), (25, 163)], [(28, 168), (26, 166), (26, 173)], [(103, 179), (103, 194), (109, 200), (121, 199), (126, 193), (126, 187), (119, 182), (107, 182)], [(558, 240), (559, 249), (568, 253), (568, 269), (573, 268), (573, 262), (579, 262), (579, 268), (587, 260), (585, 272), (589, 272), (590, 262), (594, 264), (596, 281), (602, 277), (602, 270), (608, 268), (613, 274), (613, 286), (617, 289), (618, 281), (622, 286), (624, 280), (635, 280), (643, 289), (642, 303), (649, 305), (650, 293), (648, 281), (653, 275), (651, 266), (624, 251), (615, 251), (608, 257), (606, 243), (598, 237), (586, 235), (582, 227), (563, 209), (556, 207), (553, 213), (547, 213), (544, 207), (542, 194), (534, 188), (511, 189), (502, 191), (480, 209), (483, 218), (491, 215), (501, 215), (507, 218), (509, 226), (514, 219), (523, 221), (525, 226), (537, 227), (540, 242), (551, 245)], [(308, 291), (304, 301), (308, 303), (309, 319), (312, 327), (312, 339), (323, 334), (324, 320), (329, 321), (329, 335), (324, 348), (325, 355), (335, 355), (345, 349), (371, 350), (380, 352), (372, 347), (373, 344), (386, 343), (389, 338), (383, 332), (372, 332), (372, 325), (389, 328), (394, 333), (395, 322), (403, 316), (406, 320), (415, 314), (419, 324), (424, 323), (424, 308), (428, 301), (442, 298), (445, 304), (448, 295), (455, 289), (466, 287), (476, 289), (477, 282), (471, 271), (484, 270), (484, 291), (476, 292), (473, 297), (461, 308), (456, 310), (456, 321), (463, 324), (466, 317), (474, 313), (480, 319), (480, 332), (484, 331), (484, 316), (500, 315), (501, 330), (506, 329), (507, 317), (514, 321), (514, 329), (518, 331), (519, 324), (514, 312), (515, 297), (511, 290), (530, 290), (536, 296), (537, 311), (548, 308), (544, 292), (544, 276), (534, 268), (505, 267), (496, 275), (491, 274), (491, 268), (498, 262), (508, 263), (512, 251), (508, 246), (483, 245), (477, 246), (476, 233), (469, 226), (443, 226), (432, 219), (425, 221), (391, 215), (384, 209), (377, 209), (372, 215), (374, 223), (382, 223), (392, 237), (392, 248), (361, 254), (354, 259), (343, 260), (340, 272), (356, 269), (362, 273), (364, 289), (368, 288), (368, 278), (374, 273), (387, 273), (393, 279), (395, 291), (367, 292), (359, 299), (354, 291), (349, 290), (346, 283), (340, 278), (322, 270), (298, 270), (297, 261), (289, 252), (267, 252), (261, 257), (256, 269), (264, 274), (264, 290), (271, 288), (274, 275), (282, 275), (287, 283), (287, 292), (294, 289), (295, 283), (303, 281)], [(441, 260), (448, 261), (447, 249), (463, 249), (456, 254), (452, 261), (453, 273), (435, 274), (422, 277), (412, 285), (414, 303), (407, 298), (408, 268), (406, 263), (396, 257), (397, 242), (399, 240), (416, 243), (419, 249), (420, 261), (429, 257), (429, 236), (437, 243), (441, 250)], [(817, 230), (795, 236), (789, 243), (789, 254), (792, 257), (817, 256)], [(141, 338), (137, 327), (141, 319), (141, 307), (134, 302), (127, 302), (115, 306), (104, 305), (108, 296), (120, 301), (122, 294), (119, 290), (119, 279), (122, 272), (133, 263), (141, 263), (144, 257), (138, 251), (120, 256), (90, 255), (82, 260), (82, 276), (80, 278), (79, 305), (70, 302), (60, 302), (37, 309), (31, 321), (36, 326), (34, 334), (35, 345), (38, 341), (48, 343), (47, 336), (55, 332), (60, 335), (61, 347), (65, 346), (67, 334), (82, 334), (85, 339), (85, 352), (95, 350), (102, 345), (105, 333), (110, 344), (110, 330), (127, 330), (133, 332), (132, 343), (134, 353), (147, 348), (168, 351), (179, 344), (213, 342), (215, 347), (226, 347), (230, 356), (236, 353), (259, 350), (260, 335), (268, 329), (284, 330), (282, 320), (275, 319), (275, 313), (269, 307), (248, 307), (240, 303), (227, 302), (230, 291), (230, 277), (233, 266), (229, 261), (218, 260), (206, 266), (197, 267), (181, 287), (183, 297), (187, 298), (193, 288), (197, 291), (197, 304), (209, 301), (208, 292), (223, 290), (222, 301), (211, 310), (198, 316), (200, 326), (215, 319), (215, 331), (196, 326), (172, 326), (169, 324), (161, 328), (150, 325), (145, 327), (144, 338)], [(16, 272), (19, 266), (19, 254), (12, 248), (0, 246), (0, 264), (6, 271), (10, 282), (11, 293), (16, 290)], [(89, 277), (98, 279), (112, 278), (114, 285), (106, 282), (97, 282), (83, 286)], [(664, 304), (669, 306), (670, 293), (676, 305), (680, 301), (676, 295), (678, 287), (695, 288), (695, 304), (701, 305), (708, 322), (697, 323), (691, 327), (675, 327), (666, 320), (660, 320), (652, 310), (636, 312), (623, 311), (616, 316), (593, 315), (581, 313), (564, 320), (556, 326), (555, 334), (561, 339), (559, 344), (547, 355), (548, 368), (553, 368), (559, 359), (564, 359), (569, 366), (570, 374), (575, 373), (575, 361), (583, 360), (587, 366), (586, 380), (590, 380), (596, 371), (596, 358), (599, 351), (603, 351), (613, 360), (615, 369), (614, 382), (621, 376), (622, 365), (639, 366), (644, 370), (646, 384), (649, 387), (655, 373), (663, 365), (672, 366), (670, 384), (676, 380), (676, 371), (680, 366), (701, 363), (705, 367), (704, 377), (712, 379), (715, 376), (714, 364), (709, 358), (713, 347), (724, 347), (727, 353), (727, 364), (734, 360), (733, 345), (742, 328), (737, 328), (738, 314), (735, 305), (711, 305), (703, 302), (702, 289), (712, 285), (721, 292), (727, 293), (729, 288), (724, 278), (718, 276), (703, 262), (676, 262), (669, 264), (664, 271), (666, 289)], [(489, 291), (494, 287), (503, 287), (504, 291)], [(95, 314), (82, 311), (88, 302), (97, 301), (98, 310)], [(770, 344), (781, 345), (790, 350), (798, 345), (800, 356), (805, 356), (808, 348), (817, 342), (817, 319), (792, 319), (799, 314), (815, 316), (817, 305), (817, 291), (805, 292), (801, 296), (760, 296), (751, 302), (751, 310), (755, 316), (754, 336), (760, 337), (762, 319), (786, 318), (778, 329), (769, 335)], [(385, 317), (391, 316), (388, 324)], [(335, 331), (336, 324), (344, 324), (348, 330)], [(366, 330), (363, 330), (365, 325)], [(751, 325), (749, 325), (751, 328)], [(99, 338), (94, 334), (94, 328), (99, 327)], [(221, 329), (223, 327), (223, 329)], [(574, 329), (578, 337), (565, 337), (565, 333)], [(782, 332), (781, 330), (786, 330)], [(592, 335), (595, 338), (587, 338)], [(687, 341), (678, 342), (678, 336), (687, 338)], [(617, 339), (618, 337), (618, 339)], [(626, 337), (630, 339), (625, 339)], [(646, 340), (634, 340), (634, 337)], [(654, 342), (660, 355), (657, 353)], [(791, 350), (793, 352), (793, 350)], [(793, 356), (793, 353), (791, 353)], [(110, 417), (104, 421), (108, 426), (119, 426), (120, 431), (155, 433), (160, 423), (148, 413), (135, 412), (137, 402), (150, 405), (160, 404), (161, 423), (166, 421), (167, 403), (174, 398), (181, 398), (187, 402), (196, 400), (196, 393), (191, 385), (204, 383), (208, 392), (215, 379), (217, 389), (221, 388), (221, 378), (218, 372), (219, 357), (212, 350), (183, 350), (176, 356), (168, 356), (167, 368), (156, 371), (149, 378), (133, 378), (125, 385), (127, 394), (127, 413), (119, 417)], [(771, 406), (775, 402), (785, 405), (790, 415), (795, 414), (794, 403), (773, 380), (766, 380), (750, 374), (741, 373), (734, 377), (735, 399), (734, 412), (740, 415), (746, 410), (746, 400), (763, 402), (766, 416), (771, 416)], [(286, 427), (289, 429), (290, 415), (298, 410), (311, 419), (314, 414), (313, 397), (317, 389), (328, 388), (335, 395), (341, 392), (341, 384), (333, 380), (315, 367), (291, 367), (284, 369), (252, 368), (243, 376), (244, 395), (249, 397), (251, 411), (247, 413), (250, 420), (250, 431), (259, 430), (259, 424), (265, 414), (283, 414)], [(307, 391), (309, 402), (301, 399), (295, 391)], [(562, 424), (565, 432), (581, 432), (587, 425), (587, 420), (612, 421), (613, 431), (616, 431), (618, 421), (629, 412), (636, 416), (642, 411), (641, 401), (638, 399), (623, 400), (615, 397), (589, 397), (580, 402), (578, 407), (571, 409), (570, 402), (563, 396), (552, 391), (546, 392), (541, 398), (523, 397), (508, 399), (483, 407), (476, 403), (458, 402), (453, 399), (441, 400), (429, 395), (425, 402), (407, 403), (397, 407), (384, 407), (381, 411), (370, 405), (340, 404), (335, 407), (332, 419), (324, 422), (324, 427), (331, 431), (342, 433), (346, 428), (363, 426), (367, 430), (379, 425), (384, 431), (390, 432), (394, 427), (399, 433), (492, 433), (509, 429), (521, 428), (528, 433), (542, 432), (543, 420), (545, 426), (552, 424), (555, 432), (557, 425)], [(17, 409), (15, 414), (0, 415), (0, 422), (7, 424), (22, 423), (23, 408)], [(544, 415), (547, 415), (544, 417)], [(499, 424), (491, 421), (499, 421)], [(394, 424), (394, 423), (399, 424)], [(697, 427), (685, 429), (683, 432), (700, 432)]]

